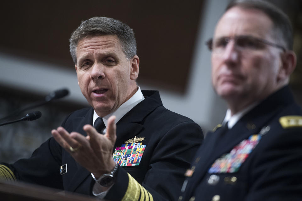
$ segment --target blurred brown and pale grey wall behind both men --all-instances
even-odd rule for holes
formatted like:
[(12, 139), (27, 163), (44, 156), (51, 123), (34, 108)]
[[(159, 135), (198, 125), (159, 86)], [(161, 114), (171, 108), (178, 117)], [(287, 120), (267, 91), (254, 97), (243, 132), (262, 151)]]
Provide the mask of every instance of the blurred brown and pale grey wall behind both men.
[[(87, 107), (69, 54), (69, 37), (82, 20), (119, 19), (133, 28), (140, 57), (138, 85), (159, 90), (166, 108), (192, 118), (206, 131), (224, 118), (226, 105), (211, 86), (205, 41), (229, 0), (5, 1), (0, 8), (0, 118), (53, 90), (70, 95), (34, 110), (42, 117), (0, 127), (0, 161), (28, 157), (72, 111)], [(291, 86), (302, 103), (302, 1), (270, 0), (294, 24), (299, 58)], [(29, 112), (29, 111), (28, 111)], [(24, 112), (25, 115), (28, 112)]]

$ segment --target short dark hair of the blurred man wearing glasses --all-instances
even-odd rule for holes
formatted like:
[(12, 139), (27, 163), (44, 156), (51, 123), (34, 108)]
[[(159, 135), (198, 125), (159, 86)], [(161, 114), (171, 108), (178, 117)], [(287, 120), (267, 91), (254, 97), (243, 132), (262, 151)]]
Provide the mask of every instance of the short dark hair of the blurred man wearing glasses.
[(276, 41), (284, 41), (287, 49), (293, 50), (293, 28), (288, 16), (271, 3), (260, 0), (235, 0), (231, 2), (226, 10), (232, 7), (243, 9), (257, 9), (265, 13), (273, 22), (274, 35)]

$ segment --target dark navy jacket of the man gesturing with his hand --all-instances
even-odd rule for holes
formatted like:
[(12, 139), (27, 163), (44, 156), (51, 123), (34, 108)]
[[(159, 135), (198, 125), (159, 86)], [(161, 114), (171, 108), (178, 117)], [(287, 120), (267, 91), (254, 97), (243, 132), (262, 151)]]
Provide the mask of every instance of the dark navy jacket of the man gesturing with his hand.
[[(141, 143), (146, 147), (138, 166), (118, 168), (115, 185), (105, 197), (108, 200), (176, 200), (184, 172), (203, 141), (200, 126), (167, 110), (158, 91), (142, 92), (145, 99), (116, 124), (115, 147), (121, 147), (135, 136), (144, 138)], [(92, 117), (93, 108), (75, 111), (62, 126), (68, 132), (86, 136), (82, 128), (85, 124), (92, 125)], [(67, 164), (67, 173), (60, 175), (60, 166), (64, 164)], [(18, 180), (70, 192), (91, 195), (95, 183), (90, 172), (76, 163), (53, 138), (36, 149), (31, 158), (3, 165), (9, 167)]]

